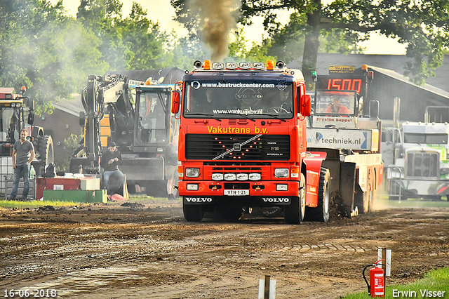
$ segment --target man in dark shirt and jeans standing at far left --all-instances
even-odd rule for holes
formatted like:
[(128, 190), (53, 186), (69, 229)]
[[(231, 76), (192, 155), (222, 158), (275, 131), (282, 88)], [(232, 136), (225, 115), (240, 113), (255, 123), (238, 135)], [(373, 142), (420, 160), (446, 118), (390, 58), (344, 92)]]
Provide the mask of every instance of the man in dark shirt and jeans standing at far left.
[[(22, 193), (22, 200), (26, 200), (29, 191), (29, 165), (34, 160), (34, 147), (32, 142), (27, 140), (28, 131), (24, 128), (20, 131), (20, 140), (14, 143), (13, 147), (13, 168), (14, 168), (14, 182), (13, 182), (13, 192), (9, 199), (15, 199), (19, 180), (23, 178), (24, 186)], [(17, 155), (17, 157), (16, 157)]]

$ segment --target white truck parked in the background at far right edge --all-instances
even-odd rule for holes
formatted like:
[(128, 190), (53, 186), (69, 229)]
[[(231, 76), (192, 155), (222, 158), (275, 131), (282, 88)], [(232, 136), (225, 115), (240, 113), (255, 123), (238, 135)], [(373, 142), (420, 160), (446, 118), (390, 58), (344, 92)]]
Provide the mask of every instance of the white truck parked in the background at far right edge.
[(427, 121), (406, 121), (382, 132), (390, 199), (440, 200), (449, 194), (449, 124), (430, 118), (426, 112)]

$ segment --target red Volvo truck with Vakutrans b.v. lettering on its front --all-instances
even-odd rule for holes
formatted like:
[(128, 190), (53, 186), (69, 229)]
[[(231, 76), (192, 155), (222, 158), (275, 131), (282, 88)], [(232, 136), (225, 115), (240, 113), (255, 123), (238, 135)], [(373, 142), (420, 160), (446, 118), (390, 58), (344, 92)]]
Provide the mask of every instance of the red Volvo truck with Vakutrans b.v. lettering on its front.
[(302, 72), (279, 61), (194, 62), (175, 86), (178, 192), (187, 221), (277, 206), (287, 223), (329, 219), (326, 152), (307, 152)]

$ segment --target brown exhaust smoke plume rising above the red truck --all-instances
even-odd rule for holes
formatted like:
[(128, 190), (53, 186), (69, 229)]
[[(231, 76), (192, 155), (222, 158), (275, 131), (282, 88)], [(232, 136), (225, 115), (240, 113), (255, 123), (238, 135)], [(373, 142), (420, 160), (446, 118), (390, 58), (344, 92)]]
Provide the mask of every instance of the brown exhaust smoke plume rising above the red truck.
[(236, 28), (241, 1), (189, 0), (187, 5), (199, 14), (200, 37), (211, 52), (210, 60), (221, 62), (229, 53), (229, 34)]

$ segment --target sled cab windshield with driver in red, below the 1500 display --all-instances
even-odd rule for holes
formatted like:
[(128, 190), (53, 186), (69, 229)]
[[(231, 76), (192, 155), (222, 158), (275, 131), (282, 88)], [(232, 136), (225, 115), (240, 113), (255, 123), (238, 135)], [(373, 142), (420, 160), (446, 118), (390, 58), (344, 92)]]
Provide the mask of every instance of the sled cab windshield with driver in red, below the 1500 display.
[(354, 114), (356, 93), (354, 91), (316, 91), (314, 114), (349, 115)]

